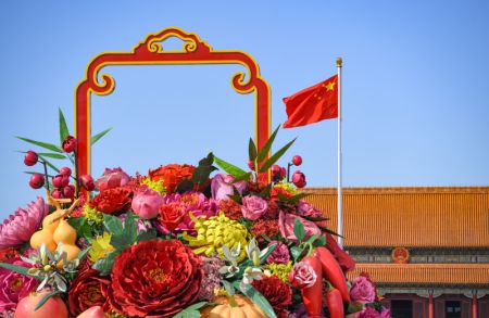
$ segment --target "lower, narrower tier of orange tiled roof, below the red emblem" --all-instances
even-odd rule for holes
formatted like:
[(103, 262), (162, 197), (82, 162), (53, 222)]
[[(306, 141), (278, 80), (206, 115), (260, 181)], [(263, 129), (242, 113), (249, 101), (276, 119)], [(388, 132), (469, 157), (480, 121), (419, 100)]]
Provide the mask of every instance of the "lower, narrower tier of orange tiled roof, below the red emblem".
[(356, 264), (352, 279), (368, 272), (379, 284), (471, 284), (487, 285), (489, 264)]

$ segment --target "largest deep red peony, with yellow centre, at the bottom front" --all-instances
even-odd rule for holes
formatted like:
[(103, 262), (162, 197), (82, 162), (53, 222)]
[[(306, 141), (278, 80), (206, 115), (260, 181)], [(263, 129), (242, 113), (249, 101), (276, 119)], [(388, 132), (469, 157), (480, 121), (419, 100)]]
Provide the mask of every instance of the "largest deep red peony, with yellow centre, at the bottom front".
[(178, 240), (151, 240), (115, 258), (109, 302), (121, 315), (172, 317), (197, 300), (201, 259)]

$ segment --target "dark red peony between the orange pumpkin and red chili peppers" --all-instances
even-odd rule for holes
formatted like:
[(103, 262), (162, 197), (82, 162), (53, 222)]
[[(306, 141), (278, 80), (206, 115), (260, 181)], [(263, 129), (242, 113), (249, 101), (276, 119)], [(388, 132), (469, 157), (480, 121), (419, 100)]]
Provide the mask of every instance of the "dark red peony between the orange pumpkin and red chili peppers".
[(287, 316), (287, 307), (292, 303), (292, 290), (277, 276), (263, 276), (261, 280), (253, 280), (251, 283), (275, 310), (278, 317)]

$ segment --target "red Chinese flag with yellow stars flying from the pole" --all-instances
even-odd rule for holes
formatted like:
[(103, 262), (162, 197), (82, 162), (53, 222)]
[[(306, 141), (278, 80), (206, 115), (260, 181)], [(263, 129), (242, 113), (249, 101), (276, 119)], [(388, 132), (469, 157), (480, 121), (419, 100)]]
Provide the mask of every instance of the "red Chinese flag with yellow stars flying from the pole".
[(287, 122), (284, 128), (338, 118), (338, 75), (284, 99)]

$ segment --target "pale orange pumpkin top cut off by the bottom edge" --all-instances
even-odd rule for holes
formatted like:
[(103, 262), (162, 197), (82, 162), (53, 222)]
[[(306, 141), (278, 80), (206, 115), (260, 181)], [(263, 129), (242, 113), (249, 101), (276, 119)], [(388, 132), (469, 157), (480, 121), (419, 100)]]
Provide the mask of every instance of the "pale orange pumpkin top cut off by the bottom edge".
[(202, 318), (266, 318), (267, 316), (252, 301), (242, 295), (218, 296), (213, 300), (217, 306), (208, 306), (200, 311)]

